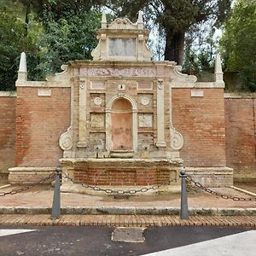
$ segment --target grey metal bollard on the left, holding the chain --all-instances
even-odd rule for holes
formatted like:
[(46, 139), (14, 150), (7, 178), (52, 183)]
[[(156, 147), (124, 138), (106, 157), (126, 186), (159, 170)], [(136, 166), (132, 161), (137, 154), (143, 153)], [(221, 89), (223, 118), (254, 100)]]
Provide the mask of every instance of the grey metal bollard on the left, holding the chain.
[(61, 216), (61, 167), (55, 169), (55, 192), (51, 208), (51, 218), (60, 218)]

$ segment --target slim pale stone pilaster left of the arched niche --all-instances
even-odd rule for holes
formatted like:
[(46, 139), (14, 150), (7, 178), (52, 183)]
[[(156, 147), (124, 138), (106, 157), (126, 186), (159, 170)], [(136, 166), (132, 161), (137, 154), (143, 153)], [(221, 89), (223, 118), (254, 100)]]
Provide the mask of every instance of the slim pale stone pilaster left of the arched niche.
[(79, 142), (78, 147), (86, 147), (86, 81), (79, 82)]

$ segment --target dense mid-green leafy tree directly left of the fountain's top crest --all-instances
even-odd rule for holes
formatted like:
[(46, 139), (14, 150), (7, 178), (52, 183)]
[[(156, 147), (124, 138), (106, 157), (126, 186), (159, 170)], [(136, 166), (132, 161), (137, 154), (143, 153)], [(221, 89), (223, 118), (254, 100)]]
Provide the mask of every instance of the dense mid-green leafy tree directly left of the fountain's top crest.
[(50, 15), (40, 42), (40, 68), (46, 73), (55, 73), (67, 61), (91, 59), (90, 53), (97, 44), (96, 28), (101, 24), (101, 14), (81, 9), (76, 14), (69, 10), (58, 20), (53, 20)]

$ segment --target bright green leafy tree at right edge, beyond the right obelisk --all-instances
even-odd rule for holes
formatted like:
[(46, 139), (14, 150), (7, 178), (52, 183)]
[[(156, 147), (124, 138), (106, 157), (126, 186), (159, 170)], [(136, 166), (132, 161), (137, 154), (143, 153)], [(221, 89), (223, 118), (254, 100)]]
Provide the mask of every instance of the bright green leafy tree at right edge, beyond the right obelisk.
[(242, 90), (256, 91), (256, 2), (238, 0), (220, 41), (225, 71), (239, 72)]

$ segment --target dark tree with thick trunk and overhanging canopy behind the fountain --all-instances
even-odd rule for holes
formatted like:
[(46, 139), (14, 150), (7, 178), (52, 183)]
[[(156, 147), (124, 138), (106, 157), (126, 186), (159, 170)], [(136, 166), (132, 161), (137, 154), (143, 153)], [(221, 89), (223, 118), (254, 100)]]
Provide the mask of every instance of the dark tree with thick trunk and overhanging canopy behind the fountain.
[(185, 32), (193, 24), (214, 20), (222, 22), (230, 12), (230, 0), (109, 0), (108, 6), (118, 15), (135, 20), (138, 10), (144, 11), (145, 20), (154, 20), (165, 31), (165, 59), (183, 62)]

